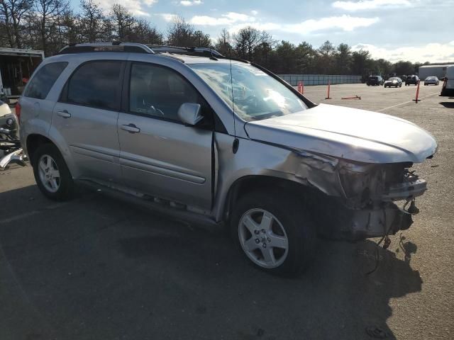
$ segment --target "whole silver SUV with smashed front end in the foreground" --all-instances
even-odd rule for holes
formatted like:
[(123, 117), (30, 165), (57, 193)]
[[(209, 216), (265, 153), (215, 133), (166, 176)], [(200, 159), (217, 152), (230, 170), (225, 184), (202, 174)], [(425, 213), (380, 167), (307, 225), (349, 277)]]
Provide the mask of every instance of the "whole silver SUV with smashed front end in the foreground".
[(406, 120), (316, 105), (257, 64), (201, 48), (70, 45), (35, 71), (17, 111), (48, 198), (80, 181), (226, 225), (255, 266), (282, 275), (306, 267), (317, 234), (408, 228), (426, 191), (409, 168), (437, 149)]

